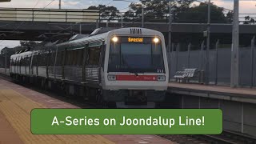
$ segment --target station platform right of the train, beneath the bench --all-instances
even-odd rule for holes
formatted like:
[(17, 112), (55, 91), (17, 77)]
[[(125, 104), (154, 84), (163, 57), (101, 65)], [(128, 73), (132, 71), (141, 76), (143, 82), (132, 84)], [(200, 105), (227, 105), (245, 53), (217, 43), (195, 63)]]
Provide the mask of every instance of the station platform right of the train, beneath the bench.
[(231, 88), (230, 86), (206, 86), (201, 84), (170, 82), (168, 91), (174, 94), (256, 103), (255, 88)]

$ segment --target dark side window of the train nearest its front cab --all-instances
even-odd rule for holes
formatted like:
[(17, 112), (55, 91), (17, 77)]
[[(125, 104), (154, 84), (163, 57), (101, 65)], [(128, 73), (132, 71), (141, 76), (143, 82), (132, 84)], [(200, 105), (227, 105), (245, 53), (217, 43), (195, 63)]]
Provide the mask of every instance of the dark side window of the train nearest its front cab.
[(89, 47), (87, 50), (89, 55), (87, 66), (98, 66), (101, 55), (101, 46)]

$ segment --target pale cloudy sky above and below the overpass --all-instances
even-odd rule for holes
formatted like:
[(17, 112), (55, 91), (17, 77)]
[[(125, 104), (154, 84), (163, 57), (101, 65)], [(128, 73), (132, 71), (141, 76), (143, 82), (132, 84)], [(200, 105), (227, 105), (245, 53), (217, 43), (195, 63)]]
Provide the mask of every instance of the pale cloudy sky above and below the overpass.
[[(0, 2), (0, 7), (12, 8), (50, 8), (57, 9), (59, 0), (11, 0), (11, 2)], [(138, 2), (139, 0), (130, 0)], [(205, 0), (199, 0), (205, 2)], [(211, 0), (215, 5), (233, 10), (234, 0)], [(49, 6), (47, 6), (50, 4)], [(62, 0), (62, 9), (86, 9), (89, 6), (98, 6), (99, 4), (116, 6), (121, 11), (128, 10), (130, 2), (117, 2), (113, 0)], [(198, 2), (195, 2), (198, 4)], [(240, 0), (240, 14), (256, 14), (256, 0)], [(5, 47), (18, 46), (19, 41), (0, 41), (0, 50)]]

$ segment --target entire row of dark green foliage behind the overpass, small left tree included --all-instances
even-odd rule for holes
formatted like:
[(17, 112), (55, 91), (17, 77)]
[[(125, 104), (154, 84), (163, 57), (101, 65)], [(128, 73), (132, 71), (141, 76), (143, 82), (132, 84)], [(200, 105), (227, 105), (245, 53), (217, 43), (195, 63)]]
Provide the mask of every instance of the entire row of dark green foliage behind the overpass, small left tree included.
[[(175, 0), (171, 2), (174, 15), (174, 22), (206, 23), (208, 5), (201, 3), (198, 6), (191, 6), (194, 0)], [(145, 22), (168, 22), (169, 1), (167, 0), (140, 0), (138, 3), (131, 3), (123, 15), (125, 22), (139, 22), (142, 20), (142, 6), (144, 7)], [(233, 12), (224, 14), (223, 8), (214, 3), (210, 6), (210, 21), (213, 23), (230, 23), (233, 19)], [(90, 6), (90, 10), (100, 10), (103, 20), (119, 20), (119, 10), (114, 6)], [(253, 18), (247, 19), (245, 23), (254, 22)]]

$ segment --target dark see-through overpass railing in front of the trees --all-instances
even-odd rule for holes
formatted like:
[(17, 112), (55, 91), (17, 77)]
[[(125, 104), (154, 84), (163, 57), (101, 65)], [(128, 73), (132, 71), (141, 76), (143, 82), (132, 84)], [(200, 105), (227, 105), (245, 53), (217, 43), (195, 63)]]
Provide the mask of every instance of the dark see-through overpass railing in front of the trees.
[[(142, 22), (142, 15), (130, 14), (129, 16), (122, 15), (101, 15), (101, 22)], [(250, 18), (246, 20), (246, 16)], [(226, 18), (211, 18), (211, 23), (226, 23), (231, 24), (233, 17)], [(144, 15), (144, 22), (157, 22), (157, 23), (169, 23), (169, 14), (162, 16), (158, 15)], [(252, 20), (251, 20), (252, 19)], [(172, 22), (176, 23), (207, 23), (207, 14), (200, 12), (178, 12), (173, 14)], [(239, 14), (240, 24), (256, 24), (256, 14)]]

